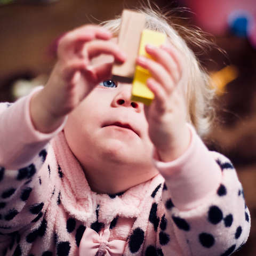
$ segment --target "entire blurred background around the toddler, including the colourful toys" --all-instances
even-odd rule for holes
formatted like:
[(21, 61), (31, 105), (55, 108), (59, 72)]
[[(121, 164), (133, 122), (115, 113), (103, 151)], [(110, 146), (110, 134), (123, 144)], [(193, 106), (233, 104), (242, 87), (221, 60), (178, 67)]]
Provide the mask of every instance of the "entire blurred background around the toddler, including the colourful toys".
[[(146, 1), (145, 1), (146, 2)], [(256, 251), (256, 2), (255, 0), (155, 0), (164, 10), (186, 7), (177, 19), (197, 26), (218, 47), (190, 45), (218, 84), (217, 122), (206, 145), (231, 159), (244, 187), (252, 228), (233, 255)], [(85, 23), (115, 18), (138, 0), (0, 0), (0, 102), (13, 102), (44, 84), (55, 62), (58, 39)], [(220, 50), (222, 49), (222, 50)]]

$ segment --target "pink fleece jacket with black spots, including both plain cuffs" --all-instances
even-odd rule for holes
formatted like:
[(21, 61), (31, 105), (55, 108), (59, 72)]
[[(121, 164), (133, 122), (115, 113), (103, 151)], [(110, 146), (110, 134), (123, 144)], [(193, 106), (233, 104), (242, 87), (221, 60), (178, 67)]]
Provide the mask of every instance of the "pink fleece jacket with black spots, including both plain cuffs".
[(234, 167), (191, 125), (185, 154), (153, 157), (156, 177), (100, 195), (67, 145), (65, 122), (51, 134), (34, 129), (33, 93), (0, 104), (0, 255), (227, 256), (246, 242), (250, 214)]

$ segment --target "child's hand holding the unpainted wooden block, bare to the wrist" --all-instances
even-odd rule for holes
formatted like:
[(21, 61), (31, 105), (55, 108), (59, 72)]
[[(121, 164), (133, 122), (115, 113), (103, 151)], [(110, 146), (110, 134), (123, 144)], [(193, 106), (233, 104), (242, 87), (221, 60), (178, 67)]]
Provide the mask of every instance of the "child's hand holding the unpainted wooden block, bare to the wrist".
[(125, 53), (109, 41), (111, 37), (106, 29), (86, 25), (60, 39), (58, 61), (49, 81), (30, 102), (30, 116), (36, 130), (50, 133), (57, 129), (95, 85), (109, 78), (112, 63), (94, 67), (90, 65), (92, 58), (109, 54), (118, 62), (125, 61)]

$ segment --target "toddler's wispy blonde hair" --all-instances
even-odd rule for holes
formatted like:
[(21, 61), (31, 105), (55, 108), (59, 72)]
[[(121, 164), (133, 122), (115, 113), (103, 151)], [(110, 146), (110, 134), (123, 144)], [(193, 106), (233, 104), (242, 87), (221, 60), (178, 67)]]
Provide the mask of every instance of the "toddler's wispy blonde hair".
[[(172, 12), (162, 13), (148, 7), (142, 7), (136, 11), (146, 15), (145, 29), (151, 29), (166, 34), (167, 39), (183, 55), (187, 63), (188, 79), (183, 91), (187, 103), (187, 122), (194, 125), (198, 134), (205, 135), (209, 132), (214, 118), (212, 99), (214, 91), (209, 84), (209, 75), (201, 67), (194, 52), (189, 49), (186, 41), (196, 45), (211, 45), (204, 35), (196, 29), (188, 29), (175, 24), (171, 15)], [(101, 26), (108, 28), (118, 35), (121, 17), (101, 23)]]

